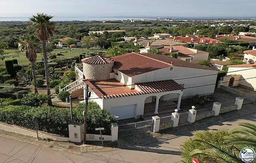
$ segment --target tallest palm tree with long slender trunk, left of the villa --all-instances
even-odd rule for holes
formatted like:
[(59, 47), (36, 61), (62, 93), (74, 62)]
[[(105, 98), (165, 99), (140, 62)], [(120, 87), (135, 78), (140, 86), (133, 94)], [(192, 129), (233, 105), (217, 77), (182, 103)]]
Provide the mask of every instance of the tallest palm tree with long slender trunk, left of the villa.
[[(48, 66), (48, 58), (47, 58), (47, 48), (46, 43), (49, 37), (53, 36), (54, 33), (54, 22), (51, 22), (53, 16), (44, 14), (44, 13), (37, 13), (37, 15), (33, 15), (29, 20), (33, 21), (32, 25), (29, 25), (29, 28), (37, 28), (35, 31), (35, 35), (42, 43), (42, 49), (44, 54), (44, 64), (45, 64), (45, 78), (47, 84), (47, 95), (50, 95), (50, 79), (49, 79), (49, 66)], [(48, 100), (49, 106), (52, 106), (52, 100)]]

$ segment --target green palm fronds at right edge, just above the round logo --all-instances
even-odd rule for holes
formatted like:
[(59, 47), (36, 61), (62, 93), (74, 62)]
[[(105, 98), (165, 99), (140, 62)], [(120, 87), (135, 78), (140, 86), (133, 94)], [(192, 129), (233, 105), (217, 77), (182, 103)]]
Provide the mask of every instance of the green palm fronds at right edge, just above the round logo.
[(236, 146), (238, 148), (251, 147), (256, 149), (256, 124), (241, 122), (238, 123), (239, 128), (234, 128), (232, 134), (241, 135), (231, 135), (226, 138), (226, 142), (230, 146)]

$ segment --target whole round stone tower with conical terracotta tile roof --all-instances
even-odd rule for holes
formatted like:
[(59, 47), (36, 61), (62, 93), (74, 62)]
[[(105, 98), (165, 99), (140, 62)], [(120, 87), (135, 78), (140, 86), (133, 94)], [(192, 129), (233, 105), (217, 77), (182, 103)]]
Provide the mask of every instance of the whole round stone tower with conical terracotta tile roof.
[(85, 79), (109, 79), (109, 73), (113, 71), (114, 59), (100, 56), (99, 53), (96, 56), (82, 59), (82, 62)]

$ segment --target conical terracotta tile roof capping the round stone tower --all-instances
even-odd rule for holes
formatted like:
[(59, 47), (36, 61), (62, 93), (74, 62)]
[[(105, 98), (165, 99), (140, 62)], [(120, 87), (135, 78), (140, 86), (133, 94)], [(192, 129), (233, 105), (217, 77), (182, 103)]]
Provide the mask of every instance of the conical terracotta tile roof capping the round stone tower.
[(109, 64), (109, 63), (113, 63), (114, 60), (112, 58), (109, 58), (109, 57), (96, 55), (96, 56), (93, 56), (93, 57), (84, 58), (84, 59), (82, 59), (82, 62), (87, 63), (87, 64)]

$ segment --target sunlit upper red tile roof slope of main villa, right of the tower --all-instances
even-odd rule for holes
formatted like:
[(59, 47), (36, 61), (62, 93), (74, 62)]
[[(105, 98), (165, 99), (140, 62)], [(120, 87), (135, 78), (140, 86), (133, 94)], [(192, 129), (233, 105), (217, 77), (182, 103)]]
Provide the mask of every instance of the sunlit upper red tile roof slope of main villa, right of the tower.
[(128, 76), (140, 75), (142, 73), (155, 71), (172, 65), (170, 63), (165, 63), (164, 61), (146, 57), (139, 53), (126, 53), (115, 56), (113, 59), (113, 68)]

